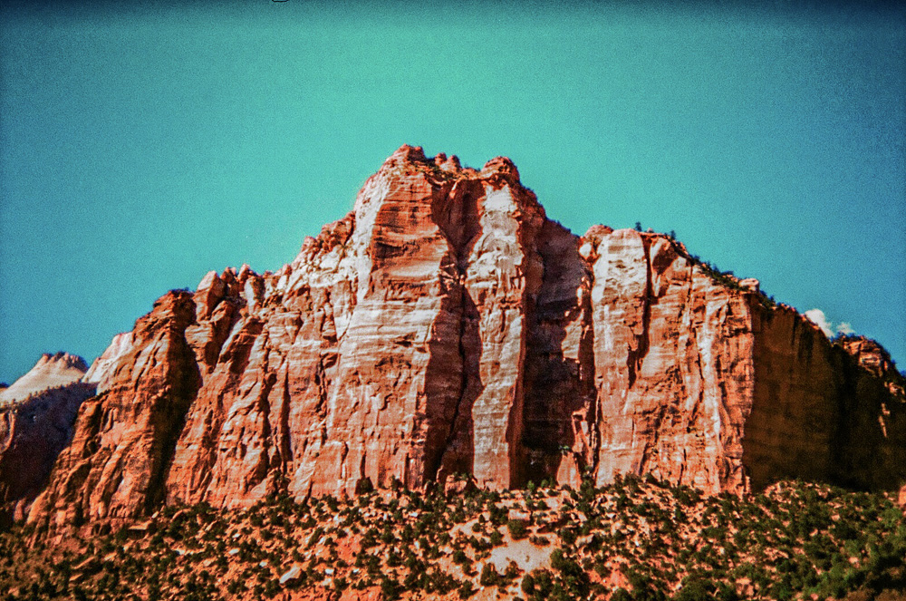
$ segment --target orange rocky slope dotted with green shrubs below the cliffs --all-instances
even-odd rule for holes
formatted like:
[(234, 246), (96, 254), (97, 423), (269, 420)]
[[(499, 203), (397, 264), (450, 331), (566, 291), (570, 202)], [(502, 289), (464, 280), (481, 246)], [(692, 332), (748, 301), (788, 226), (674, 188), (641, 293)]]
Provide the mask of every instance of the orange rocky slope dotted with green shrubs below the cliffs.
[(85, 538), (17, 525), (0, 535), (0, 598), (906, 599), (906, 519), (889, 493), (545, 484), (364, 481), (349, 499), (166, 507)]

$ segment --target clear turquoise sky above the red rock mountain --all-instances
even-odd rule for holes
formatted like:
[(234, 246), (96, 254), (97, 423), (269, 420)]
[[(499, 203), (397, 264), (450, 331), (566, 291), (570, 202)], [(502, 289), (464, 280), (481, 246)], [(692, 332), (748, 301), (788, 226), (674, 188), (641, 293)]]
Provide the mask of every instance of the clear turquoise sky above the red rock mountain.
[(446, 4), (6, 4), (0, 381), (275, 270), (402, 143), (509, 156), (574, 232), (673, 229), (906, 364), (904, 10)]

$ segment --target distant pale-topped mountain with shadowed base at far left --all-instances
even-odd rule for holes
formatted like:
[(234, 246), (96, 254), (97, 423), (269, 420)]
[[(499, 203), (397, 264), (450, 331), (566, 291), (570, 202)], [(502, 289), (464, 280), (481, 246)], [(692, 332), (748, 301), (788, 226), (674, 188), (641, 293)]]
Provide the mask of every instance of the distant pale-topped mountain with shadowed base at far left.
[(94, 394), (82, 357), (44, 354), (0, 405), (0, 519), (22, 519), (72, 438), (76, 412)]

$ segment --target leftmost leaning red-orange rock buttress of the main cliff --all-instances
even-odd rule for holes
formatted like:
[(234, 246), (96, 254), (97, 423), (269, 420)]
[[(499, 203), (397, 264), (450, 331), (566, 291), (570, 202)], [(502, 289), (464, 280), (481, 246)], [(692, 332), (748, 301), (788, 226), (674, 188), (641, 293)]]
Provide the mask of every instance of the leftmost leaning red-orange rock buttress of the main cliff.
[(111, 386), (82, 403), (72, 442), (30, 515), (78, 526), (132, 519), (163, 499), (173, 448), (198, 391), (186, 341), (194, 315), (192, 295), (171, 292), (140, 318)]

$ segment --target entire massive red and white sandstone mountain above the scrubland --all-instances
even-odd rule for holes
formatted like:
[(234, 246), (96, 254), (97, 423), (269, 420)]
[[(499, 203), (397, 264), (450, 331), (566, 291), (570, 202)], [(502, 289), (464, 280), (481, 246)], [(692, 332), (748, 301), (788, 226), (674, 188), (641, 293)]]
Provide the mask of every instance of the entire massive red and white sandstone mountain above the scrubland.
[(460, 473), (897, 484), (902, 379), (882, 350), (734, 282), (658, 234), (574, 236), (507, 159), (404, 146), (292, 263), (211, 272), (120, 334), (30, 519)]

